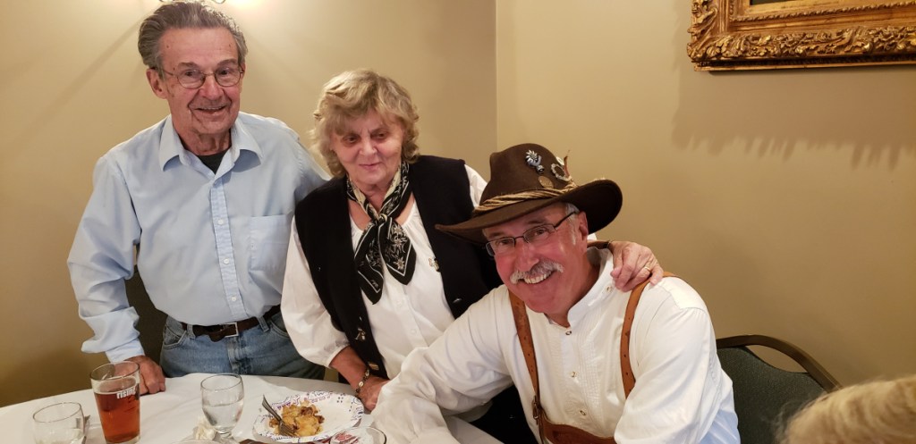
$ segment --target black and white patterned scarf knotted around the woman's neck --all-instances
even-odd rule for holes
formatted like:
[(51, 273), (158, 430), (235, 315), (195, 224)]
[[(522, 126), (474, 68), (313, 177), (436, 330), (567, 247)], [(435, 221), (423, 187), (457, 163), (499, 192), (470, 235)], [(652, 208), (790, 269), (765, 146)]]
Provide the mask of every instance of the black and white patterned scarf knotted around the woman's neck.
[(400, 169), (391, 181), (391, 188), (387, 190), (382, 202), (381, 211), (372, 208), (362, 191), (353, 186), (353, 182), (349, 179), (346, 182), (347, 197), (362, 205), (370, 219), (363, 236), (356, 244), (354, 262), (356, 274), (359, 275), (359, 287), (373, 304), (382, 298), (385, 280), (383, 265), (398, 282), (407, 285), (413, 277), (414, 265), (417, 262), (417, 252), (413, 250), (410, 239), (396, 221), (410, 198), (408, 170), (407, 162), (401, 162)]

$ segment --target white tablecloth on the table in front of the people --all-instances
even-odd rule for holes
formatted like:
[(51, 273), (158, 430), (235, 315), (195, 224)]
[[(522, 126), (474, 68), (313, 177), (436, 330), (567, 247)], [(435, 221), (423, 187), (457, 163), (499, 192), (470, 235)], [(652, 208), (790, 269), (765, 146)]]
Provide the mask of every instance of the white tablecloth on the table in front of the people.
[[(194, 427), (203, 418), (201, 381), (206, 376), (207, 374), (189, 374), (180, 378), (169, 378), (166, 380), (165, 392), (140, 397), (139, 444), (171, 444), (191, 437)], [(245, 375), (243, 382), (245, 384), (245, 408), (238, 421), (238, 426), (234, 429), (233, 436), (237, 440), (258, 439), (269, 442), (268, 439), (253, 434), (253, 425), (261, 406), (261, 395), (266, 395), (271, 402), (279, 402), (288, 395), (313, 390), (353, 395), (353, 389), (347, 384), (313, 379)], [(89, 384), (88, 380), (86, 384)], [(95, 408), (95, 398), (91, 389), (0, 407), (0, 437), (2, 437), (0, 442), (31, 444), (34, 442), (32, 413), (41, 406), (64, 401), (82, 404), (82, 412), (89, 415), (86, 444), (104, 444), (98, 411)], [(460, 419), (449, 417), (447, 420), (453, 435), (463, 443), (497, 444), (499, 442)], [(361, 424), (369, 425), (371, 423), (372, 416), (366, 414)], [(392, 443), (389, 441), (389, 444)]]

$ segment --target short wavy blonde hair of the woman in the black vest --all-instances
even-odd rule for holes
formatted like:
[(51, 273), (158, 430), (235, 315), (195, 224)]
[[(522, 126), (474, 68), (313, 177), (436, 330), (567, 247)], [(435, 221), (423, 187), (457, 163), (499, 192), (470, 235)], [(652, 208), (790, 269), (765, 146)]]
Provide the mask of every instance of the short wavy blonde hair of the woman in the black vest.
[(346, 171), (333, 152), (332, 135), (342, 134), (349, 121), (372, 111), (388, 123), (403, 128), (402, 159), (412, 163), (420, 157), (420, 146), (417, 146), (420, 116), (409, 92), (373, 70), (344, 71), (324, 84), (314, 112), (315, 127), (311, 130), (312, 146), (322, 153), (334, 176), (343, 177)]

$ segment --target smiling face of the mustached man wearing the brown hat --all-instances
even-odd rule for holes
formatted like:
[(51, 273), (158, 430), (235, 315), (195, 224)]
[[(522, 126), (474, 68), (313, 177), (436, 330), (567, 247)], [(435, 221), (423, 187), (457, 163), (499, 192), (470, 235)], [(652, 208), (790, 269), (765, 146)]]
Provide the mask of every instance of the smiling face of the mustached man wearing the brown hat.
[[(521, 236), (540, 225), (553, 225), (566, 215), (565, 204), (558, 203), (512, 221), (484, 229), (490, 241), (505, 236)], [(496, 271), (512, 293), (529, 309), (568, 326), (566, 314), (592, 287), (597, 269), (588, 262), (588, 222), (585, 213), (567, 219), (551, 237), (537, 246), (516, 239), (516, 247), (497, 254)]]

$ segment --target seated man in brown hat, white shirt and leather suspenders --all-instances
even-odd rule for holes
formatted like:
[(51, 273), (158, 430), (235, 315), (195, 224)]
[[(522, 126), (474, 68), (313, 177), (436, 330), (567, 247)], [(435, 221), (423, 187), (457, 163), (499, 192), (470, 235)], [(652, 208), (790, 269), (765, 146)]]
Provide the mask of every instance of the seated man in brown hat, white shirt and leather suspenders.
[(408, 357), (376, 425), (396, 443), (457, 442), (442, 411), (516, 384), (544, 442), (739, 442), (703, 299), (676, 277), (621, 292), (610, 254), (587, 245), (620, 211), (616, 183), (577, 186), (534, 144), (491, 155), (490, 168), (472, 218), (437, 228), (484, 244), (505, 285)]

